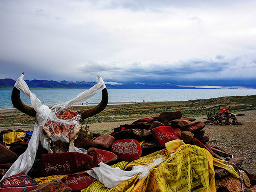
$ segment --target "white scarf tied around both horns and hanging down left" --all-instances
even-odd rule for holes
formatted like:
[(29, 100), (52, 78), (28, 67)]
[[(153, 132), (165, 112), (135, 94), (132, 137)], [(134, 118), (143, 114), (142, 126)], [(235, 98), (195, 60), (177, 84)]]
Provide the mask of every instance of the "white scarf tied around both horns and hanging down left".
[[(21, 74), (21, 76), (17, 79), (14, 86), (18, 90), (20, 90), (21, 92), (25, 93), (27, 96), (30, 97), (32, 107), (36, 111), (37, 121), (35, 122), (34, 131), (29, 141), (28, 148), (23, 154), (20, 155), (20, 157), (18, 157), (15, 163), (12, 164), (12, 166), (8, 169), (8, 171), (6, 172), (6, 174), (3, 176), (1, 180), (15, 174), (27, 174), (29, 172), (35, 160), (35, 155), (38, 149), (41, 130), (44, 127), (47, 120), (55, 119), (55, 113), (52, 112), (48, 106), (43, 105), (34, 93), (31, 93), (28, 85), (24, 81), (23, 74)], [(104, 81), (102, 80), (101, 77), (99, 77), (98, 83), (95, 84), (93, 87), (91, 87), (89, 90), (79, 93), (75, 98), (71, 99), (70, 101), (55, 105), (52, 108), (61, 108), (61, 109), (68, 108), (76, 102), (82, 102), (90, 98), (91, 96), (95, 95), (96, 93), (99, 93), (99, 91), (103, 90), (105, 87), (106, 86)], [(43, 147), (48, 150), (47, 141), (44, 139), (44, 137), (41, 137), (41, 139), (42, 139), (41, 143)], [(70, 148), (70, 151), (83, 152), (81, 149), (76, 148), (75, 146), (72, 146)]]

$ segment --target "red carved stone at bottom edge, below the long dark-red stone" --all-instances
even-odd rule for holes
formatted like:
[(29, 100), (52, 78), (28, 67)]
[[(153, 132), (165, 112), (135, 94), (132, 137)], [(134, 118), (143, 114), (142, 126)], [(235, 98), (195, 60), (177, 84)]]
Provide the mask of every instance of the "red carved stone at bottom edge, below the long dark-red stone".
[(67, 180), (65, 180), (65, 185), (70, 187), (72, 190), (81, 190), (95, 181), (96, 179), (87, 173), (77, 173), (67, 177)]

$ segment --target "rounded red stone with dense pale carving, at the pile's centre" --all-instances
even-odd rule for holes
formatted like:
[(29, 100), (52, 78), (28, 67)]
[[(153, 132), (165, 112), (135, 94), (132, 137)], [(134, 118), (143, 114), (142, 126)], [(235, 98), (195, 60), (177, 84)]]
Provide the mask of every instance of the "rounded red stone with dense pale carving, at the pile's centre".
[(111, 151), (119, 160), (133, 161), (140, 158), (142, 151), (140, 143), (134, 139), (117, 140), (113, 143)]

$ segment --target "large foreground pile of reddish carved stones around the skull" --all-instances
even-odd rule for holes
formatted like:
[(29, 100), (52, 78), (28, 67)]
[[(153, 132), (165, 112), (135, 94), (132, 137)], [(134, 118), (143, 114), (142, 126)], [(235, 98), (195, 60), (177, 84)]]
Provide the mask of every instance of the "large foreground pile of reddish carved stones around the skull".
[[(0, 190), (18, 192), (26, 188), (26, 191), (31, 192), (81, 191), (96, 181), (81, 171), (97, 167), (100, 162), (112, 165), (120, 161), (136, 160), (165, 148), (165, 143), (176, 139), (206, 148), (213, 157), (227, 160), (234, 168), (239, 168), (243, 158), (233, 158), (232, 154), (228, 154), (218, 146), (210, 146), (209, 136), (205, 135), (204, 122), (195, 120), (195, 118), (182, 118), (181, 111), (164, 111), (157, 117), (138, 119), (132, 124), (120, 125), (114, 128), (111, 134), (93, 134), (92, 141), (84, 137), (77, 138), (74, 141), (75, 146), (87, 150), (87, 154), (78, 152), (48, 154), (39, 143), (35, 163), (28, 175), (13, 175), (4, 179), (0, 183)], [(10, 131), (12, 130), (5, 130), (0, 134), (0, 178), (28, 147), (29, 136), (26, 136), (22, 142), (10, 145), (1, 143), (3, 134)], [(60, 178), (44, 182), (52, 175), (59, 175)], [(68, 176), (61, 177), (61, 175)], [(256, 189), (255, 175), (250, 175), (245, 170), (241, 175), (246, 181), (244, 189)], [(216, 168), (215, 180), (218, 191), (231, 192), (234, 191), (234, 187), (241, 189), (241, 181), (230, 176), (226, 169)]]

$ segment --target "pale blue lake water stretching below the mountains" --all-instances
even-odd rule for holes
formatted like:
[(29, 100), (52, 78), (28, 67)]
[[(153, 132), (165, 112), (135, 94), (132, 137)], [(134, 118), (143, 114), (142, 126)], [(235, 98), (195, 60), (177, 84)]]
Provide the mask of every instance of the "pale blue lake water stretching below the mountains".
[[(81, 89), (69, 89), (69, 90), (31, 90), (32, 93), (41, 100), (42, 104), (52, 106), (61, 102), (67, 102), (73, 99), (77, 94), (83, 92)], [(12, 90), (0, 90), (0, 108), (12, 108), (11, 101)], [(232, 89), (173, 89), (173, 90), (108, 90), (109, 104), (118, 103), (134, 103), (134, 102), (160, 102), (160, 101), (188, 101), (193, 99), (210, 99), (221, 96), (247, 96), (256, 95), (256, 89), (250, 90), (232, 90)], [(23, 93), (20, 93), (21, 100), (30, 105), (30, 99)], [(97, 93), (95, 96), (87, 99), (84, 105), (98, 104), (101, 101), (102, 94)], [(78, 103), (77, 105), (80, 105)]]

